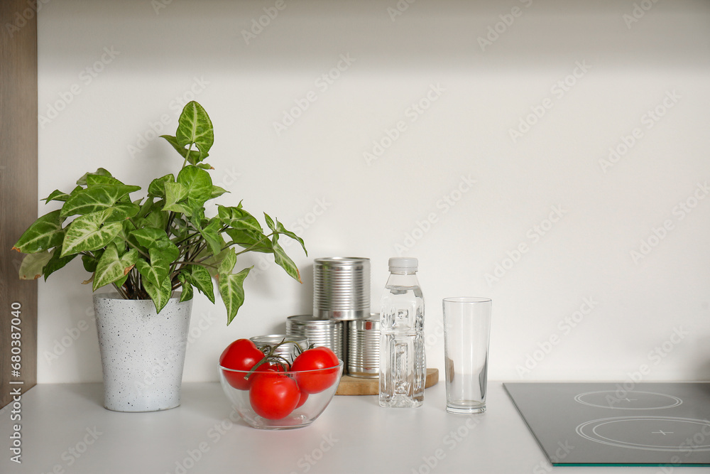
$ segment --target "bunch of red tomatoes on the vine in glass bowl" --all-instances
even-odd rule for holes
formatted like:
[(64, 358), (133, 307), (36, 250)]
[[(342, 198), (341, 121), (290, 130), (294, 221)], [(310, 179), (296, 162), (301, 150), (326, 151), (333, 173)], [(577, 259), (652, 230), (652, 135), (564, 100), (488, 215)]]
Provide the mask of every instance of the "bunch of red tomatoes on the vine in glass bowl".
[(329, 348), (304, 350), (293, 363), (266, 354), (249, 339), (231, 343), (219, 357), (227, 382), (239, 390), (249, 390), (252, 409), (263, 418), (278, 420), (305, 404), (309, 394), (317, 394), (337, 382), (337, 355)]

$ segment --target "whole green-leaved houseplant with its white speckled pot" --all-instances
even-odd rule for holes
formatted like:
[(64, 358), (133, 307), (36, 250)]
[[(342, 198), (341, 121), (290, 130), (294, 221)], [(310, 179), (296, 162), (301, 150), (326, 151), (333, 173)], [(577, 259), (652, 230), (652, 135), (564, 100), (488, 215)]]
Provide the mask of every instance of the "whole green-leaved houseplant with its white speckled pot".
[(86, 173), (69, 193), (55, 190), (45, 201), (62, 207), (39, 217), (13, 249), (26, 255), (21, 279), (37, 279), (81, 256), (94, 293), (104, 375), (104, 406), (153, 411), (180, 404), (180, 380), (195, 289), (214, 303), (214, 283), (229, 325), (244, 303), (244, 279), (253, 267), (234, 271), (246, 252), (273, 254), (276, 264), (300, 281), (279, 243), (303, 240), (266, 212), (268, 233), (253, 215), (207, 201), (226, 193), (212, 184), (204, 162), (214, 141), (212, 121), (197, 102), (178, 119), (175, 136), (163, 138), (182, 158), (177, 176), (155, 178), (144, 198), (104, 168)]

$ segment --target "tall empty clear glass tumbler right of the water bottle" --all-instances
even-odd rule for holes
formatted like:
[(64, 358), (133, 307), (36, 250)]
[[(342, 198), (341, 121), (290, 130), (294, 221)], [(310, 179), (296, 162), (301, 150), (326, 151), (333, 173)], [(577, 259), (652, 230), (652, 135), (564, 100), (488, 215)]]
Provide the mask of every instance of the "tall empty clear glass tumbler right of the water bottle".
[(489, 298), (444, 298), (446, 410), (455, 414), (486, 411)]

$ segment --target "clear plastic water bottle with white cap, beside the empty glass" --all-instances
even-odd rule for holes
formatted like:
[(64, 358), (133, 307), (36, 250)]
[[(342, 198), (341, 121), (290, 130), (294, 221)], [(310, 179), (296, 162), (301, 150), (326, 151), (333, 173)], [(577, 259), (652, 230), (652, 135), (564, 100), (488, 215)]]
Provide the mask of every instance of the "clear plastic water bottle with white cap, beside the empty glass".
[(414, 408), (424, 402), (424, 296), (417, 266), (415, 258), (389, 260), (380, 308), (380, 406)]

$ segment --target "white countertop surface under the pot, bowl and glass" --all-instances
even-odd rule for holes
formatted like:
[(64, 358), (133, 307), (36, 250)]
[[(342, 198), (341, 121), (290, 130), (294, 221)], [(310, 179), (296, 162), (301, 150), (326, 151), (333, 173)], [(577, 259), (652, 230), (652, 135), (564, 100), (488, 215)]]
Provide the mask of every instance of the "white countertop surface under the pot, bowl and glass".
[(335, 397), (311, 426), (289, 431), (244, 424), (218, 383), (183, 384), (182, 405), (167, 411), (116, 413), (102, 399), (102, 384), (33, 387), (21, 399), (21, 464), (9, 451), (18, 421), (11, 406), (0, 412), (0, 473), (663, 472), (552, 468), (501, 382), (489, 382), (481, 415), (447, 414), (439, 382), (418, 409), (384, 409), (374, 396)]

